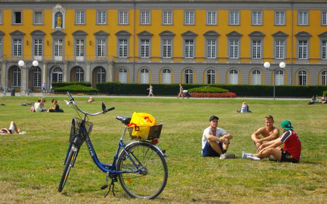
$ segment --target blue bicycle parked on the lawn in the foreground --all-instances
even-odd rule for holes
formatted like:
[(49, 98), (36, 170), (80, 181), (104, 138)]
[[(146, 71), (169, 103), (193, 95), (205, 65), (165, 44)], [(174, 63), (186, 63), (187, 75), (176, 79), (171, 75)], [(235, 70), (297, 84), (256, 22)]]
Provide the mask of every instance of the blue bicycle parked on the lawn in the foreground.
[[(115, 196), (114, 188), (115, 182), (120, 181), (124, 191), (135, 198), (155, 198), (166, 187), (168, 180), (168, 167), (165, 160), (165, 150), (161, 150), (156, 144), (161, 132), (162, 123), (151, 126), (149, 135), (152, 137), (151, 141), (146, 140), (129, 140), (125, 143), (124, 140), (127, 130), (131, 134), (131, 127), (128, 124), (131, 121), (130, 117), (117, 116), (116, 119), (124, 124), (122, 136), (116, 150), (112, 164), (105, 164), (98, 160), (95, 149), (89, 137), (92, 132), (93, 124), (88, 122), (88, 116), (97, 116), (112, 111), (115, 108), (107, 109), (102, 103), (102, 111), (99, 113), (88, 113), (81, 110), (74, 101), (74, 98), (67, 92), (70, 100), (66, 101), (67, 105), (72, 107), (78, 113), (80, 119), (73, 118), (70, 144), (65, 158), (65, 168), (58, 187), (61, 192), (67, 182), (69, 172), (74, 167), (78, 152), (81, 145), (85, 141), (89, 153), (93, 159), (94, 164), (104, 173), (106, 173), (106, 184), (101, 186), (101, 189), (109, 187), (106, 196), (111, 188)], [(81, 116), (82, 113), (84, 116)], [(111, 179), (110, 186), (108, 180)]]

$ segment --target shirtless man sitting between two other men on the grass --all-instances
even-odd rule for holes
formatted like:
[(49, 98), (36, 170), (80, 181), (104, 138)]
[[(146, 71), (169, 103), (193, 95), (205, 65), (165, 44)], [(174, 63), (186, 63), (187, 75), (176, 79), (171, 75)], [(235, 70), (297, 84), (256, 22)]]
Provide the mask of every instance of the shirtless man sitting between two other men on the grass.
[[(264, 123), (265, 127), (260, 127), (257, 129), (252, 135), (251, 139), (254, 142), (254, 145), (256, 149), (258, 150), (261, 144), (264, 142), (268, 142), (274, 139), (277, 139), (279, 137), (279, 129), (274, 125), (274, 118), (273, 116), (265, 116), (264, 117)], [(262, 136), (262, 138), (259, 138), (259, 135)]]

